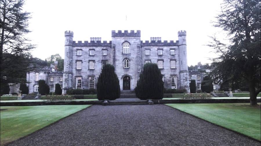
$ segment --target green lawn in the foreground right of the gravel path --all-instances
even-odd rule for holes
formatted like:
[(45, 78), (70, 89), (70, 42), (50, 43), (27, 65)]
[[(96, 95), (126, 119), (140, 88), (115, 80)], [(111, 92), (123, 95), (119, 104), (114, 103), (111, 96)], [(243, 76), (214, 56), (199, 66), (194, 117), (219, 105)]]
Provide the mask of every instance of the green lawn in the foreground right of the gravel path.
[(166, 105), (261, 141), (260, 107), (247, 103)]

